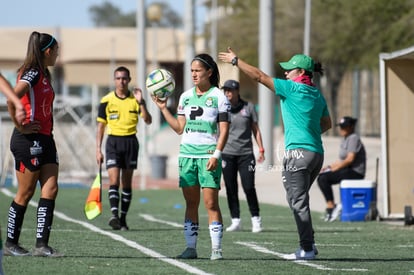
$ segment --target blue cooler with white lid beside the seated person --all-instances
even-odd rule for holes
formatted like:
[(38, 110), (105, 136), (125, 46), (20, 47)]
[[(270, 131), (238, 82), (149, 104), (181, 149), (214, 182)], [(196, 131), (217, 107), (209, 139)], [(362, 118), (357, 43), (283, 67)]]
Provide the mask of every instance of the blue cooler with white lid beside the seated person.
[(365, 221), (371, 202), (376, 202), (376, 184), (371, 180), (342, 180), (340, 184), (341, 221)]

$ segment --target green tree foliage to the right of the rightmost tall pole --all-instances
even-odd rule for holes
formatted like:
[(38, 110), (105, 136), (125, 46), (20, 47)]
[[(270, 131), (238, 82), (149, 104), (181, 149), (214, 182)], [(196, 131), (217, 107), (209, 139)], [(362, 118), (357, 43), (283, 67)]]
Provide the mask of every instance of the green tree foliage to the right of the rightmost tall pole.
[(311, 53), (323, 60), (336, 120), (339, 85), (353, 69), (377, 70), (379, 53), (414, 43), (414, 1), (313, 0)]

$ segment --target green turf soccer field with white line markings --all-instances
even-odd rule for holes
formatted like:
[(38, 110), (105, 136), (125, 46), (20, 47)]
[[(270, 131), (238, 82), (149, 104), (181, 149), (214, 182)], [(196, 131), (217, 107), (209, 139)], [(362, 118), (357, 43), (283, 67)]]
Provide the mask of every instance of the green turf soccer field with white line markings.
[[(3, 241), (7, 210), (15, 189), (0, 190)], [(3, 257), (6, 275), (24, 274), (408, 274), (414, 272), (414, 229), (403, 222), (325, 223), (313, 213), (319, 255), (314, 261), (286, 261), (298, 246), (291, 212), (261, 204), (264, 231), (251, 233), (245, 201), (241, 201), (240, 232), (224, 232), (222, 261), (210, 260), (207, 215), (200, 205), (200, 234), (196, 260), (177, 260), (185, 249), (182, 232), (184, 201), (180, 190), (134, 190), (128, 216), (129, 231), (113, 231), (107, 192), (104, 213), (88, 221), (83, 213), (87, 188), (61, 188), (56, 201), (50, 245), (63, 258)], [(20, 243), (35, 244), (37, 192), (26, 211)], [(225, 226), (230, 217), (220, 198)]]

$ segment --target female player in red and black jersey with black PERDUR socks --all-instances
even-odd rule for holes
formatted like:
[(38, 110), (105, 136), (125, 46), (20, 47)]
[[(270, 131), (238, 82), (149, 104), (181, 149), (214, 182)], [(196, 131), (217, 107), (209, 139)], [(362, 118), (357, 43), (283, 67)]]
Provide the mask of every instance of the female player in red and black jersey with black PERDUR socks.
[(23, 123), (18, 123), (14, 118), (16, 110), (9, 104), (15, 124), (10, 149), (15, 159), (18, 188), (9, 208), (4, 255), (30, 255), (27, 249), (20, 246), (19, 237), (27, 204), (39, 181), (41, 194), (37, 207), (36, 246), (32, 255), (62, 256), (49, 246), (58, 193), (59, 160), (52, 134), (55, 93), (48, 66), (55, 65), (58, 55), (59, 45), (52, 35), (36, 31), (31, 33), (27, 55), (18, 70), (14, 88), (26, 112)]

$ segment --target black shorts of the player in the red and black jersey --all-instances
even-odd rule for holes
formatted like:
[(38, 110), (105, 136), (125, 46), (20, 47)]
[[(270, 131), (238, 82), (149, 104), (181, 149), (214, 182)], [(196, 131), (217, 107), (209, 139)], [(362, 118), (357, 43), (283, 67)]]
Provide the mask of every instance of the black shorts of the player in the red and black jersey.
[(24, 135), (16, 130), (10, 140), (10, 150), (15, 160), (15, 169), (24, 172), (38, 171), (42, 165), (54, 163), (59, 165), (59, 158), (53, 136), (42, 134)]

